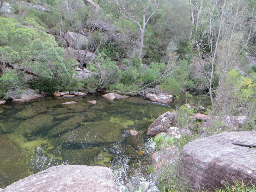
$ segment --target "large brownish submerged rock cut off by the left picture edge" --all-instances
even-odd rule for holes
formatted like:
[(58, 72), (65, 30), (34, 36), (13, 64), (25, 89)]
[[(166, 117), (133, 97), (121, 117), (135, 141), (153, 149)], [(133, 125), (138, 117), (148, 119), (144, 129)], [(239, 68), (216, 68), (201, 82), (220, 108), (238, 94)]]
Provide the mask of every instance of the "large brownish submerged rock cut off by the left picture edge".
[(29, 176), (28, 164), (30, 153), (15, 142), (9, 140), (7, 134), (0, 135), (0, 186)]

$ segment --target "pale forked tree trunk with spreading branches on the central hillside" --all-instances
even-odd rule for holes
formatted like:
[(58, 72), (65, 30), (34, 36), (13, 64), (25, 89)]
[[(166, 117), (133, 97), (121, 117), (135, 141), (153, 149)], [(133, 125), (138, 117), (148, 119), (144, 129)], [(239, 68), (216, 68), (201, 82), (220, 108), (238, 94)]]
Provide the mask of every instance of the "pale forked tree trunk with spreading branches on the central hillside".
[[(116, 4), (118, 4), (118, 1), (116, 1)], [(145, 33), (145, 27), (148, 24), (150, 18), (156, 13), (156, 11), (159, 9), (159, 6), (161, 5), (161, 2), (156, 3), (155, 7), (152, 10), (152, 13), (146, 18), (146, 14), (150, 11), (150, 7), (149, 6), (144, 6), (143, 4), (141, 4), (141, 10), (143, 11), (143, 15), (140, 17), (134, 17), (134, 13), (129, 14), (128, 11), (125, 9), (125, 7), (119, 6), (118, 7), (118, 12), (123, 16), (123, 18), (126, 19), (130, 19), (132, 22), (136, 23), (139, 27), (140, 27), (140, 31), (141, 31), (141, 37), (140, 37), (140, 47), (139, 47), (139, 54), (138, 54), (138, 58), (141, 57), (141, 53), (143, 50), (143, 41), (144, 41), (144, 33)], [(140, 24), (139, 18), (143, 19), (142, 25)]]

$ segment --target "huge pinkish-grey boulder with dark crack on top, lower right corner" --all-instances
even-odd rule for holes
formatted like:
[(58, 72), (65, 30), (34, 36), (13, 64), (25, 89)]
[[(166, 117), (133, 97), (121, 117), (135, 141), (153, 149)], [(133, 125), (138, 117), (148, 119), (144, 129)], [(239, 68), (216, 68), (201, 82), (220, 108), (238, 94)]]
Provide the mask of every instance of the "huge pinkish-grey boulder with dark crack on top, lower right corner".
[(256, 183), (256, 131), (223, 132), (186, 144), (180, 158), (191, 186), (213, 190), (224, 187), (226, 180)]

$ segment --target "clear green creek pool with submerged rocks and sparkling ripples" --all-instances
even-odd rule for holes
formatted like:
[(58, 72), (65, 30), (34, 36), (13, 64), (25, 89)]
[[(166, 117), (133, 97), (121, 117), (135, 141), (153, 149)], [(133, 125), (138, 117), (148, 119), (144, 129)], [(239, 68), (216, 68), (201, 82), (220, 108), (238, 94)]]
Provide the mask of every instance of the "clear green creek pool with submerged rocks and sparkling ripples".
[[(76, 104), (61, 104), (68, 101)], [(193, 97), (187, 102), (198, 101)], [(0, 187), (50, 166), (76, 164), (110, 167), (119, 187), (132, 190), (141, 180), (149, 180), (153, 147), (146, 135), (148, 126), (159, 115), (173, 111), (175, 103), (184, 102), (183, 97), (170, 105), (138, 97), (110, 102), (100, 95), (87, 95), (2, 105)], [(131, 129), (139, 134), (131, 136)]]

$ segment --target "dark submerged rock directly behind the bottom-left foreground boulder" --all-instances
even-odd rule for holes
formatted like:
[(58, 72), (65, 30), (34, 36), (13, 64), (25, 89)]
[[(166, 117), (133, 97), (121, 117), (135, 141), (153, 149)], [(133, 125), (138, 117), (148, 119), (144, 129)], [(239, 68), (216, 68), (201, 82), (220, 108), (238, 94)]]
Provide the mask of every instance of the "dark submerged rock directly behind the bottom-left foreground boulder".
[(61, 157), (69, 165), (88, 165), (101, 152), (98, 147), (89, 149), (63, 150)]

